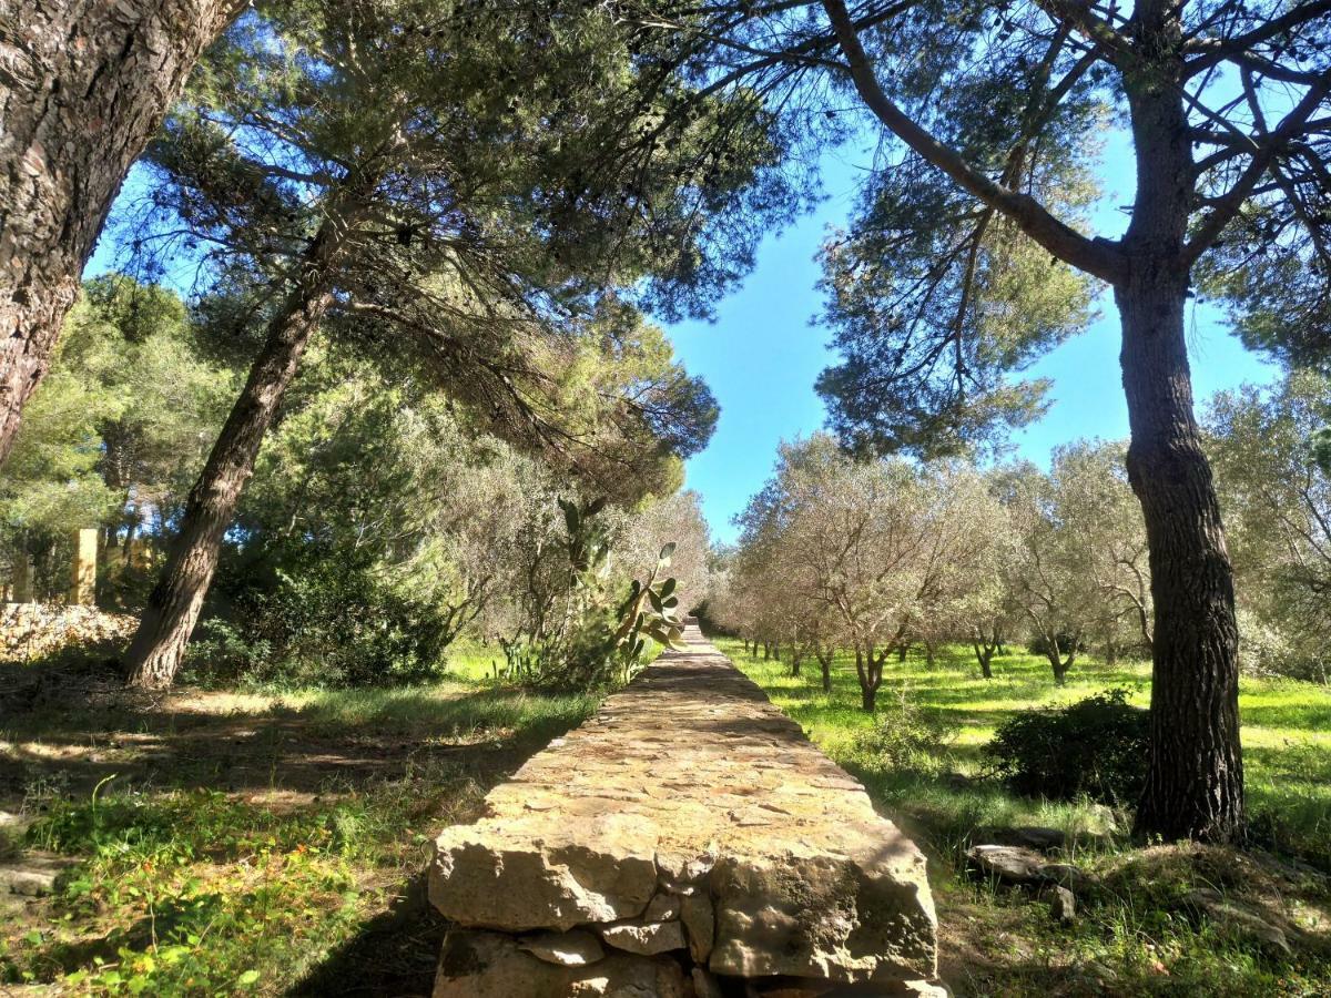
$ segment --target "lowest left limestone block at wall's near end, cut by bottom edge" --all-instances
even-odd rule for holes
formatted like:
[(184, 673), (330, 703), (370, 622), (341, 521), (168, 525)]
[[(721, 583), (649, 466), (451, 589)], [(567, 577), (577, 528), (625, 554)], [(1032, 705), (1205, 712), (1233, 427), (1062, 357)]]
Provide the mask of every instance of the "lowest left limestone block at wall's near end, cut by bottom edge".
[(453, 930), (443, 941), (434, 998), (687, 998), (668, 958), (615, 953), (587, 966), (547, 963), (511, 935)]

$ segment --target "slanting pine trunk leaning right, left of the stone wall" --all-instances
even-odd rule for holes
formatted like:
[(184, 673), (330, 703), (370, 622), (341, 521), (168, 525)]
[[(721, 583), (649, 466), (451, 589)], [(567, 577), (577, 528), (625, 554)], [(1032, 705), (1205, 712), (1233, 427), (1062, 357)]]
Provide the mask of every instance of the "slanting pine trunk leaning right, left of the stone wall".
[(264, 435), (295, 375), (305, 345), (333, 302), (330, 266), (343, 241), (342, 225), (333, 221), (322, 225), (306, 251), (297, 287), (269, 322), (264, 347), (190, 490), (180, 534), (148, 597), (126, 655), (130, 687), (169, 687), (180, 669), (217, 571), (222, 536), (254, 471)]

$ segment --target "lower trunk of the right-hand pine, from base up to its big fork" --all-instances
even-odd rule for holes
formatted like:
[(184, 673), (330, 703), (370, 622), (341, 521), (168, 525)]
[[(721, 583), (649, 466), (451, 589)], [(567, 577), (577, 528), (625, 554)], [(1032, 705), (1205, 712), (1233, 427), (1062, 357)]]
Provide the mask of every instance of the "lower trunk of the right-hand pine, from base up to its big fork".
[(1227, 841), (1243, 826), (1234, 575), (1193, 415), (1186, 287), (1143, 283), (1117, 294), (1127, 470), (1146, 520), (1155, 607), (1151, 758), (1137, 826)]

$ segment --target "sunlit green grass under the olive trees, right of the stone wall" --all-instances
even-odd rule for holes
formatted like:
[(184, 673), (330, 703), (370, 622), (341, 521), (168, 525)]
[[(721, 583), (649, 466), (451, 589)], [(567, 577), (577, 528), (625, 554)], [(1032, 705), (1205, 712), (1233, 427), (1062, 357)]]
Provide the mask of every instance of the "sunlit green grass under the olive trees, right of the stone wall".
[[(962, 649), (933, 667), (912, 655), (888, 667), (878, 703), (913, 704), (949, 723), (953, 733), (929, 765), (894, 769), (857, 745), (873, 720), (860, 707), (853, 661), (839, 657), (824, 693), (817, 663), (804, 675), (748, 656), (739, 641), (720, 648), (756, 680), (833, 758), (856, 773), (886, 814), (905, 826), (930, 857), (940, 912), (942, 971), (968, 995), (1331, 994), (1331, 881), (1291, 866), (1266, 850), (1157, 845), (1127, 840), (1130, 816), (1090, 802), (1017, 797), (985, 778), (981, 747), (1004, 719), (1044, 704), (1079, 700), (1127, 687), (1133, 701), (1150, 699), (1142, 664), (1078, 664), (1055, 687), (1047, 663), (1013, 653), (984, 680)], [(1254, 825), (1266, 845), (1319, 864), (1331, 856), (1331, 689), (1283, 680), (1242, 684), (1243, 741)], [(1070, 853), (1099, 880), (1069, 929), (1055, 927), (1029, 897), (976, 884), (964, 853), (989, 829), (1024, 824), (1065, 830)], [(1206, 919), (1181, 900), (1197, 888), (1262, 913), (1288, 930), (1292, 954), (1263, 950)]]

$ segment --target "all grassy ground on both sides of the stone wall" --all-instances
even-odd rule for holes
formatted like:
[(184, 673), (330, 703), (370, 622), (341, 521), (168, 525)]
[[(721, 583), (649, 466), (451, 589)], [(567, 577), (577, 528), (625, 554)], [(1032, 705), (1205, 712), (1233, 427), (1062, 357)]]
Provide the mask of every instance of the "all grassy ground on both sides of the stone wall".
[[(720, 644), (925, 848), (960, 994), (1331, 991), (1324, 878), (1262, 853), (1134, 848), (1105, 834), (1125, 816), (1017, 798), (984, 778), (980, 747), (1004, 717), (1115, 685), (1145, 703), (1141, 667), (1083, 665), (1057, 688), (1030, 656), (1001, 659), (988, 683), (960, 655), (893, 664), (884, 716), (905, 691), (956, 724), (930, 765), (901, 770), (857, 747), (872, 721), (848, 661), (828, 696), (816, 668), (792, 677)], [(0, 810), (32, 821), (8, 840), (0, 829), (0, 862), (68, 864), (49, 897), (0, 894), (0, 993), (427, 994), (443, 930), (421, 890), (431, 837), (475, 817), (488, 786), (595, 708), (496, 683), (496, 657), (455, 649), (449, 679), (405, 689), (133, 701), (56, 676), (0, 704)], [(0, 675), (0, 688), (13, 679)], [(1262, 828), (1318, 856), (1331, 826), (1331, 695), (1250, 681), (1243, 709)], [(1067, 830), (1073, 860), (1102, 878), (1074, 926), (962, 873), (980, 829), (1017, 824)], [(1178, 897), (1199, 885), (1268, 913), (1294, 954), (1186, 917)]]

